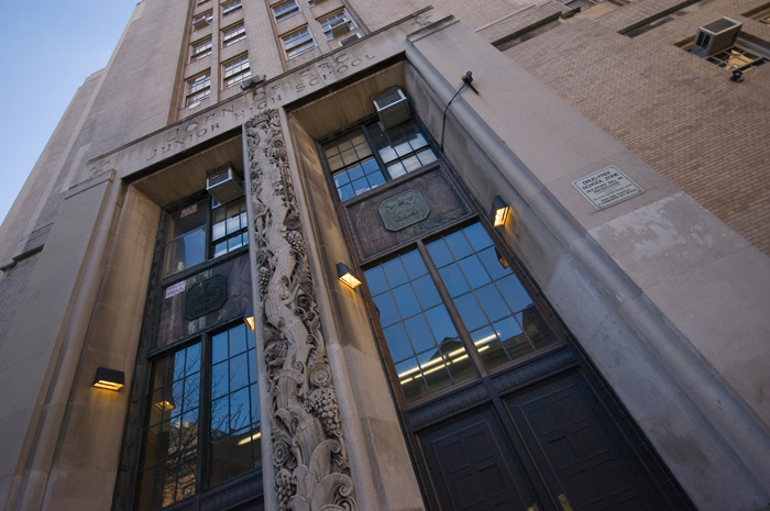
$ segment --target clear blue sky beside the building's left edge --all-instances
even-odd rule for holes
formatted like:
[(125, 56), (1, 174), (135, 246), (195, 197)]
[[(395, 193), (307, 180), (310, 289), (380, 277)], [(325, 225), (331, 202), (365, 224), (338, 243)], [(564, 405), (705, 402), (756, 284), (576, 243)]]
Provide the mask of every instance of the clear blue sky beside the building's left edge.
[(69, 100), (103, 68), (136, 0), (0, 0), (0, 222)]

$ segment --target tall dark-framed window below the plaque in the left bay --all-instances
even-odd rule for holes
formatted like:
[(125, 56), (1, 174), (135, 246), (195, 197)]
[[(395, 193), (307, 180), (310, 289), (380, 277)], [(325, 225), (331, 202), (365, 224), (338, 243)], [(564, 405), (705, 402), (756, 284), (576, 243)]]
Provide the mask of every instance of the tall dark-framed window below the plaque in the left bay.
[(261, 466), (253, 337), (243, 323), (152, 362), (136, 509), (194, 497)]

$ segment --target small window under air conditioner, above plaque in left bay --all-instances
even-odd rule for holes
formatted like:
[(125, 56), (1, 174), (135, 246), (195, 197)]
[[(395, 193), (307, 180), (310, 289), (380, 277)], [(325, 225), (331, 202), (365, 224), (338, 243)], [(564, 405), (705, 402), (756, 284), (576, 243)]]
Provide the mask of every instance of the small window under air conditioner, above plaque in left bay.
[(245, 197), (226, 204), (211, 203), (206, 198), (170, 215), (164, 277), (249, 246)]

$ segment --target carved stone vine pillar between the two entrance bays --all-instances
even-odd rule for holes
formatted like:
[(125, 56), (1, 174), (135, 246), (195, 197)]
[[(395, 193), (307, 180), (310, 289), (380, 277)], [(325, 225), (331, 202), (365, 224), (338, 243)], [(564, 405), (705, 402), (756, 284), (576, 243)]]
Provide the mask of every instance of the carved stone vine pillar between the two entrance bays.
[(355, 511), (278, 112), (249, 120), (245, 134), (278, 509)]

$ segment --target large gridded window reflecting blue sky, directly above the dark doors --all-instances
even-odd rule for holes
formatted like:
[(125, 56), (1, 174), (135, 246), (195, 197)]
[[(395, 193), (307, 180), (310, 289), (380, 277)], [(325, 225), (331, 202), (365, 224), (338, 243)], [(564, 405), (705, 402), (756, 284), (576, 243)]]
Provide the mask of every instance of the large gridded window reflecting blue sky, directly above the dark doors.
[(419, 245), (364, 271), (407, 403), (558, 343), (480, 223)]

